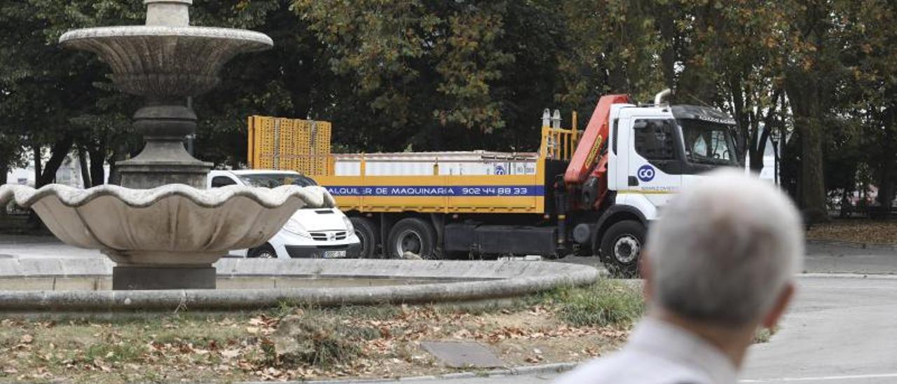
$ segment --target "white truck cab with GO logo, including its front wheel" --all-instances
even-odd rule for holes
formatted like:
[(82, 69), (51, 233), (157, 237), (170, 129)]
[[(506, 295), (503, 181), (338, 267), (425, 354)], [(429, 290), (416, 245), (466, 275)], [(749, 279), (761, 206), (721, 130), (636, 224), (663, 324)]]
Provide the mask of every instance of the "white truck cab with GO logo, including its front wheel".
[(701, 173), (743, 167), (736, 121), (691, 105), (614, 104), (609, 113), (607, 197), (593, 249), (615, 273), (636, 275), (647, 226)]

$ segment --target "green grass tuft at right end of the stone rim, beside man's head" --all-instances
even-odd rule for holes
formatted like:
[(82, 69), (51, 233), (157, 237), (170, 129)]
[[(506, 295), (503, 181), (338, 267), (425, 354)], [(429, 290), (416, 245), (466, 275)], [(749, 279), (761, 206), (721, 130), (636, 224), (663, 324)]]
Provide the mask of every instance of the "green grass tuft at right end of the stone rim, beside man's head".
[(645, 311), (640, 289), (620, 280), (599, 280), (585, 287), (563, 287), (548, 293), (557, 315), (574, 327), (629, 327)]

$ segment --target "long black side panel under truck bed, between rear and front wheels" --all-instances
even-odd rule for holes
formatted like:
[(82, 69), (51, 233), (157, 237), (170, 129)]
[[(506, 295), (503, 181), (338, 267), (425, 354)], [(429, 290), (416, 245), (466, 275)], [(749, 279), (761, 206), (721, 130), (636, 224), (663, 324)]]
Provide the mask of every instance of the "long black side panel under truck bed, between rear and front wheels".
[(445, 250), (475, 255), (557, 255), (557, 228), (519, 225), (446, 224)]

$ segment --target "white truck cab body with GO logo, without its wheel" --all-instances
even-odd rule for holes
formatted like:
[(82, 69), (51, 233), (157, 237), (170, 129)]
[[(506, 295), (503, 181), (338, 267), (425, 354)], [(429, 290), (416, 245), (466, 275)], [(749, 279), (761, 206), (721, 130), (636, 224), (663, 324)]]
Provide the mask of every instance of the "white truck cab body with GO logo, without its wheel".
[(611, 118), (607, 188), (649, 221), (699, 174), (739, 166), (736, 122), (716, 109), (617, 104)]

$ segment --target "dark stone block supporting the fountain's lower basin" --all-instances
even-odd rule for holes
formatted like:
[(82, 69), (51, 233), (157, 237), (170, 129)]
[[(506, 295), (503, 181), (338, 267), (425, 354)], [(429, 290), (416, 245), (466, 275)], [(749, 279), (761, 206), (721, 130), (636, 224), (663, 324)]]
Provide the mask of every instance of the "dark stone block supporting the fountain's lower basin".
[(115, 266), (112, 268), (112, 289), (214, 289), (216, 276), (215, 268), (211, 265)]

